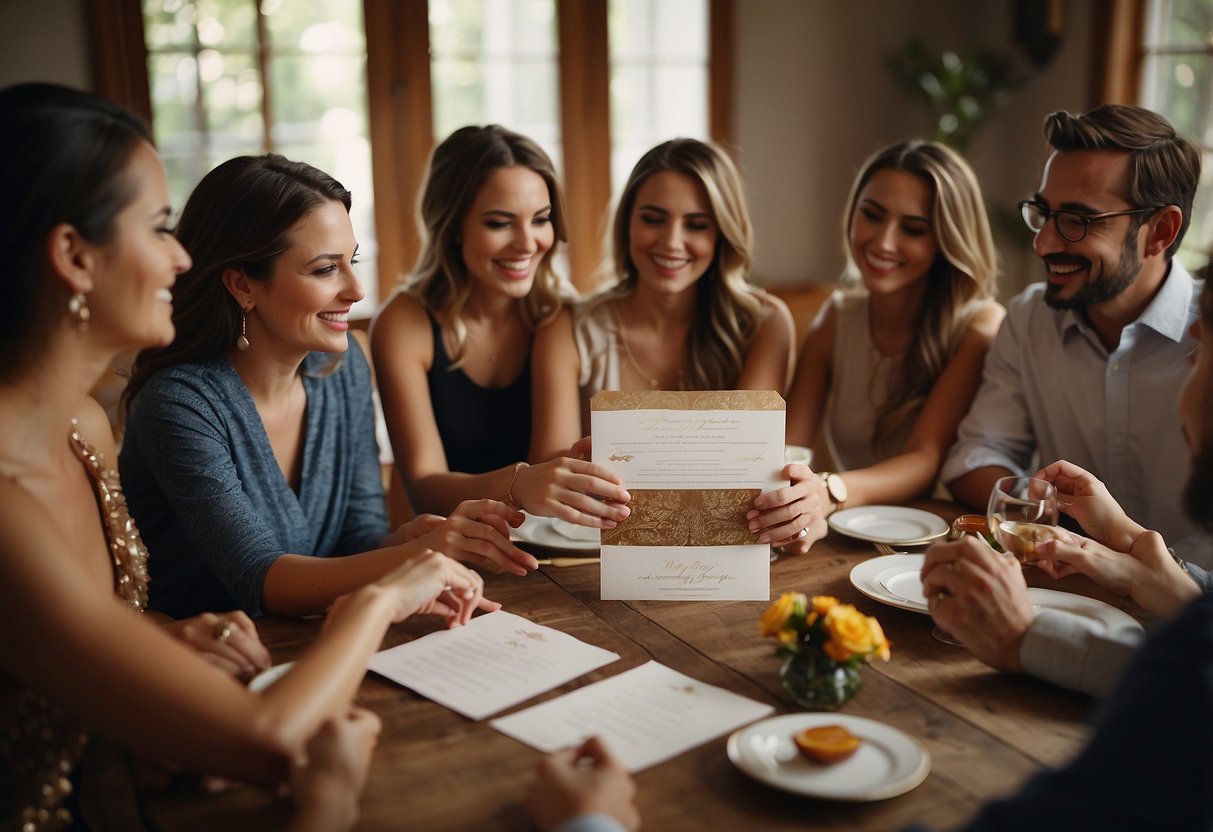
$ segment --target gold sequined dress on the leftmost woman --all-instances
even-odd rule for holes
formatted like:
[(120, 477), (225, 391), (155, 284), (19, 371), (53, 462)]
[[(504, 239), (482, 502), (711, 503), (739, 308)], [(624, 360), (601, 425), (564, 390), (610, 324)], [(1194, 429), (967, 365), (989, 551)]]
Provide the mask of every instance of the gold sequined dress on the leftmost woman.
[[(118, 472), (102, 467), (103, 460), (75, 422), (70, 438), (97, 495), (114, 592), (142, 612), (148, 598), (147, 548), (126, 511)], [(36, 691), (0, 677), (0, 830), (41, 832), (73, 825), (66, 805), (73, 788), (69, 777), (85, 743), (82, 725)]]

